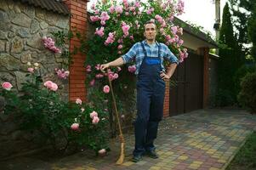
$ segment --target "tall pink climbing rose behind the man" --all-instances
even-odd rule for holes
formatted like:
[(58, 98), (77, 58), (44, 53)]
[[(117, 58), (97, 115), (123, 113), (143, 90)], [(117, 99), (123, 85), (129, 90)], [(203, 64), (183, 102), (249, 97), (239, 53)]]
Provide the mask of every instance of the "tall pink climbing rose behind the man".
[[(122, 107), (128, 105), (129, 100), (134, 98), (135, 79), (131, 77), (136, 71), (134, 62), (122, 68), (111, 68), (105, 74), (100, 72), (100, 64), (117, 59), (120, 55), (127, 53), (135, 42), (144, 40), (144, 24), (148, 20), (155, 20), (156, 41), (168, 45), (168, 48), (179, 58), (179, 62), (182, 62), (188, 57), (187, 49), (182, 47), (184, 41), (180, 38), (183, 29), (174, 26), (173, 20), (175, 14), (183, 14), (184, 3), (182, 0), (148, 2), (105, 0), (104, 3), (102, 2), (98, 1), (90, 8), (89, 20), (96, 28), (86, 48), (85, 69), (88, 73), (88, 99), (92, 100), (97, 108), (106, 111), (107, 108), (102, 108), (105, 105), (102, 106), (99, 101), (106, 99), (111, 101), (105, 88), (108, 84), (106, 77), (109, 77), (113, 81), (116, 94), (122, 93), (117, 96), (120, 111)], [(121, 101), (122, 103), (125, 101), (125, 105), (121, 105)], [(108, 106), (111, 110), (111, 105)], [(127, 112), (129, 110), (131, 108), (128, 108)]]

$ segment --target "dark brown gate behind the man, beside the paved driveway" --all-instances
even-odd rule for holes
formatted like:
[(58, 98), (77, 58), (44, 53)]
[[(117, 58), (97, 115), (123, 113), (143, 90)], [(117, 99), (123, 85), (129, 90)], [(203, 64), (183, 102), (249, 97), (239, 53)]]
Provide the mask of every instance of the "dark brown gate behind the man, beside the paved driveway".
[(178, 65), (170, 83), (169, 115), (202, 109), (203, 56), (190, 53)]

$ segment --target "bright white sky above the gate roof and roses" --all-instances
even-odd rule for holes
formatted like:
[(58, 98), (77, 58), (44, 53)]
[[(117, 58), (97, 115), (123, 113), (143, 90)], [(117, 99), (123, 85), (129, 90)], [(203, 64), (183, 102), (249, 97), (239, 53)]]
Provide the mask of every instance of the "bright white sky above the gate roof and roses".
[[(220, 0), (220, 19), (222, 18), (222, 10), (228, 0)], [(96, 0), (90, 0), (88, 6)], [(189, 21), (196, 26), (202, 26), (204, 30), (210, 31), (215, 37), (213, 25), (215, 22), (215, 4), (213, 0), (184, 0), (185, 14), (179, 15), (179, 19)]]

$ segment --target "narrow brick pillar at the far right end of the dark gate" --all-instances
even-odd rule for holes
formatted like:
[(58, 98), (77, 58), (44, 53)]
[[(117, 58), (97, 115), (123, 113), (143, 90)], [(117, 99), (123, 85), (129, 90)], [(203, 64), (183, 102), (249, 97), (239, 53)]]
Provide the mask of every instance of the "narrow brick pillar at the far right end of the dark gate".
[(207, 108), (209, 97), (209, 48), (198, 48), (197, 53), (203, 56), (202, 107)]

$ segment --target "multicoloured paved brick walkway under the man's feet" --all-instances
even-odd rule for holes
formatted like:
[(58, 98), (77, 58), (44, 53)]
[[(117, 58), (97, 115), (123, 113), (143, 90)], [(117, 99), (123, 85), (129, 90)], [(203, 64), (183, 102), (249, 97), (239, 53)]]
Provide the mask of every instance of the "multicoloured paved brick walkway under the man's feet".
[(143, 161), (131, 160), (134, 136), (126, 135), (126, 159), (117, 166), (120, 146), (111, 142), (111, 152), (105, 157), (95, 157), (83, 151), (60, 160), (39, 160), (23, 157), (0, 163), (0, 169), (161, 169), (161, 170), (217, 170), (225, 169), (249, 134), (256, 131), (256, 116), (245, 111), (201, 110), (173, 116), (161, 122), (157, 152), (160, 158), (143, 157)]

